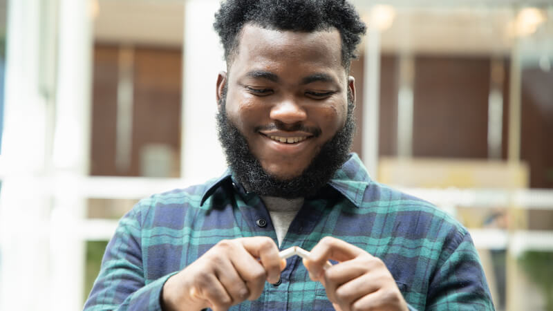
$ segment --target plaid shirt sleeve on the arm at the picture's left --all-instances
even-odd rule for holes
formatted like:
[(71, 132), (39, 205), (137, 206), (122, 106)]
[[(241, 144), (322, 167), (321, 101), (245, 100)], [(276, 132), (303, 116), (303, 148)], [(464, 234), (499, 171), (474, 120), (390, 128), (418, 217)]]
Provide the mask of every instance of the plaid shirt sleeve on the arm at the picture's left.
[(84, 310), (161, 310), (160, 294), (171, 274), (145, 284), (140, 211), (129, 211), (109, 241)]

